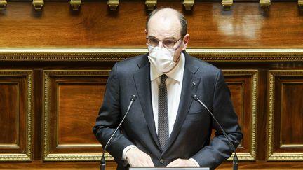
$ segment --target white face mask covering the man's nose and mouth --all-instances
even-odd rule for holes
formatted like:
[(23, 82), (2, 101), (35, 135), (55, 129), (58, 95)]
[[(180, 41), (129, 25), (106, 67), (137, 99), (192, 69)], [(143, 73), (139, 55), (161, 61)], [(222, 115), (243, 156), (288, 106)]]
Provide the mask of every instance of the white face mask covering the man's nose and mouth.
[(159, 72), (168, 73), (176, 63), (173, 61), (175, 55), (174, 49), (160, 48), (148, 46), (149, 49), (149, 62), (152, 64)]

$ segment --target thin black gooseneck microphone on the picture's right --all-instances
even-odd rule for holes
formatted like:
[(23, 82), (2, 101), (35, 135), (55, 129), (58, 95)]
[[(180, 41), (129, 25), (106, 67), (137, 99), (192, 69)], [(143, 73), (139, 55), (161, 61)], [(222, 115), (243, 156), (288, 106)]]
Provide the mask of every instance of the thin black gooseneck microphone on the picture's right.
[(222, 128), (222, 126), (220, 125), (220, 123), (215, 118), (215, 115), (213, 115), (213, 113), (208, 109), (208, 107), (205, 104), (203, 104), (203, 102), (201, 101), (201, 99), (199, 97), (197, 97), (196, 94), (192, 95), (191, 97), (195, 101), (198, 101), (198, 103), (201, 104), (204, 108), (206, 108), (206, 110), (210, 113), (210, 115), (213, 117), (213, 119), (215, 120), (215, 122), (217, 122), (217, 125), (219, 125), (221, 132), (227, 138), (227, 141), (229, 141), (229, 146), (231, 146), (231, 148), (234, 150), (233, 170), (238, 170), (238, 156), (236, 155), (236, 148), (234, 148), (233, 143), (231, 143), (231, 140), (229, 139), (229, 136), (227, 136), (226, 132), (224, 131), (224, 129)]

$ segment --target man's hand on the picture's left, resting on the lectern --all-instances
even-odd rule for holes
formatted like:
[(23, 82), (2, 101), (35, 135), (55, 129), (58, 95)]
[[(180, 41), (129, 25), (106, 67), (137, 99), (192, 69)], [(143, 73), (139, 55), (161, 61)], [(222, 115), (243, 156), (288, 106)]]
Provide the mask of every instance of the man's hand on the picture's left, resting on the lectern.
[(130, 167), (154, 167), (152, 158), (138, 148), (130, 148), (126, 151), (126, 160)]

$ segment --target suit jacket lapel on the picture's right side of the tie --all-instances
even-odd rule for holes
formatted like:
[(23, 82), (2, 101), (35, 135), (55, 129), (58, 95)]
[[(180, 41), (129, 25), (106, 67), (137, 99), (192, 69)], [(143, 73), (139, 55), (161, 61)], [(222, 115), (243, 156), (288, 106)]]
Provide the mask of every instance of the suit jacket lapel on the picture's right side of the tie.
[[(192, 95), (196, 94), (196, 90), (200, 83), (201, 78), (195, 76), (198, 68), (194, 66), (192, 59), (189, 55), (184, 52), (185, 55), (185, 66), (184, 66), (184, 75), (183, 75), (183, 83), (182, 83), (182, 91), (180, 96), (180, 104), (177, 111), (177, 118), (175, 120), (175, 124), (173, 127), (173, 132), (170, 134), (170, 139), (168, 141), (168, 147), (175, 141), (177, 134), (179, 134), (180, 129), (183, 125), (183, 122), (189, 112), (189, 108), (191, 106), (191, 102), (193, 101)], [(165, 151), (165, 150), (164, 150)]]

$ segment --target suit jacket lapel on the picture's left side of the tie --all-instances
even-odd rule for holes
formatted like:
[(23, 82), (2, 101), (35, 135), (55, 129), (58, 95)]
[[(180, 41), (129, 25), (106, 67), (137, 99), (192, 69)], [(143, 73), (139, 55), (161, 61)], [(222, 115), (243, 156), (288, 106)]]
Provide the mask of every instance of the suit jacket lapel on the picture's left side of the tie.
[(150, 81), (150, 65), (147, 56), (143, 56), (141, 62), (137, 63), (139, 70), (133, 73), (135, 80), (135, 87), (140, 99), (140, 104), (144, 113), (149, 132), (152, 135), (152, 139), (161, 150), (161, 146), (156, 134), (156, 128), (154, 125), (154, 113), (152, 111), (152, 94), (151, 94), (151, 81)]

